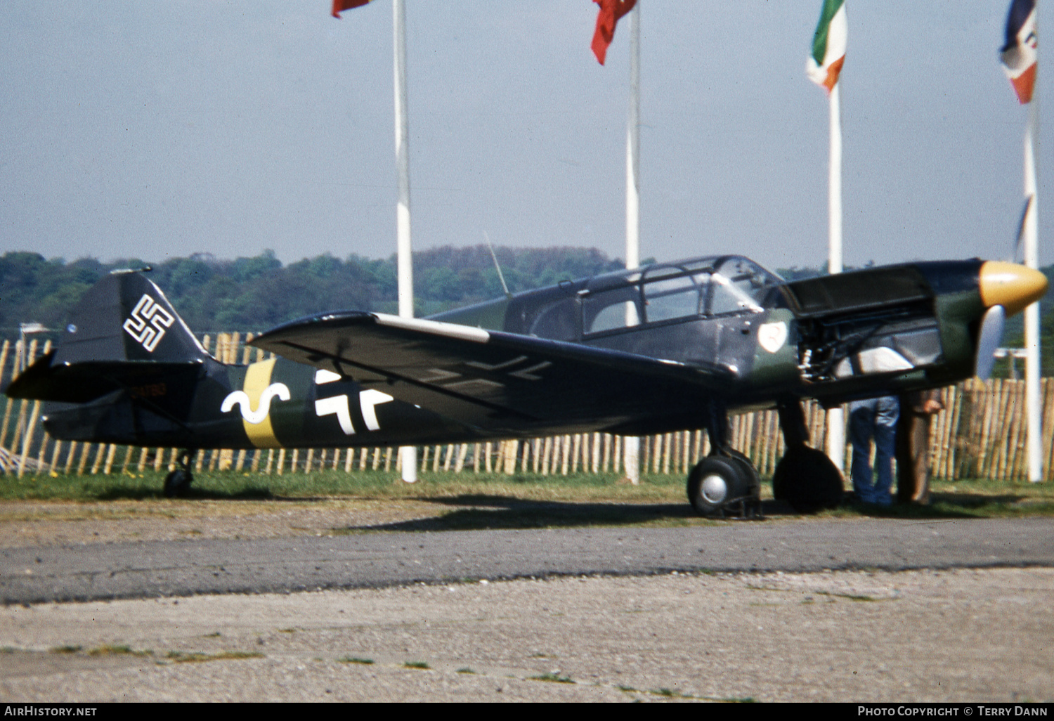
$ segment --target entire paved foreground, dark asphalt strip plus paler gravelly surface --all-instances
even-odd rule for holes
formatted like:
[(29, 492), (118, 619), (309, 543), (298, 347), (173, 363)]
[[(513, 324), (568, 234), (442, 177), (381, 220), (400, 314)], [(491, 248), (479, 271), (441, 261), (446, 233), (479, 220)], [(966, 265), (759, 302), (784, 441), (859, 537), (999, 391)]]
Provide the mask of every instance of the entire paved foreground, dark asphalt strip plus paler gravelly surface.
[(1052, 541), (1040, 518), (8, 545), (0, 699), (1049, 702)]

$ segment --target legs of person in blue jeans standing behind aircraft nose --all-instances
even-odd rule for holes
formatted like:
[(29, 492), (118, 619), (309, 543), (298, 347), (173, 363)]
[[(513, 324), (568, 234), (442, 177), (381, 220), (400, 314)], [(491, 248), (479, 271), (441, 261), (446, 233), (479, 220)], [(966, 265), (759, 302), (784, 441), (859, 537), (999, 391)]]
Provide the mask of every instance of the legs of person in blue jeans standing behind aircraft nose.
[[(885, 395), (850, 404), (850, 443), (853, 444), (853, 490), (861, 503), (893, 503), (893, 456), (897, 446), (900, 403)], [(871, 468), (871, 441), (875, 440), (875, 469)]]

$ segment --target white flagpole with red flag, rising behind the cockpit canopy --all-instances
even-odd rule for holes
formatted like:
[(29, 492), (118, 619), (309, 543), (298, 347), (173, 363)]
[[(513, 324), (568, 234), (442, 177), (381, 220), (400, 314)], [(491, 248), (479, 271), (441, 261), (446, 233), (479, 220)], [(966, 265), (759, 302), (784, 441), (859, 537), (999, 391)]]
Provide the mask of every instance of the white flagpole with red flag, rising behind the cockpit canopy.
[[(629, 117), (626, 122), (626, 270), (641, 265), (641, 3), (629, 12)], [(637, 307), (626, 307), (626, 325), (640, 321)], [(626, 478), (641, 482), (641, 440), (626, 437)]]

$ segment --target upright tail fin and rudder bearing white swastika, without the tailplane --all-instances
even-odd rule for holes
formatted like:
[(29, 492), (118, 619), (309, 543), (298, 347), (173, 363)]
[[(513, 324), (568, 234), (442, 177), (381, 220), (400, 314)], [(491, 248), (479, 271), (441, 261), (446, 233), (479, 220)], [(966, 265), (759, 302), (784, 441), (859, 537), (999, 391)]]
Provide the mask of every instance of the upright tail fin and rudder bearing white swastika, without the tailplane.
[(81, 298), (62, 331), (55, 363), (187, 363), (208, 356), (161, 289), (142, 273), (123, 271)]

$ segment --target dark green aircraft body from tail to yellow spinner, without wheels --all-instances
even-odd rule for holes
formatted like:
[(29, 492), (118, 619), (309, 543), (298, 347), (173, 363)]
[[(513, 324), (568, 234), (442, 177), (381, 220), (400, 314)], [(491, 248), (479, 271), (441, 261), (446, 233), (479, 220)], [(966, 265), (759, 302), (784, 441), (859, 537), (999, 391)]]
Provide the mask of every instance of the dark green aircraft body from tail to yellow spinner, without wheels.
[[(1020, 298), (1046, 289), (1019, 268), (915, 262), (784, 282), (740, 256), (697, 258), (565, 281), (441, 313), (431, 325), (352, 312), (307, 318), (254, 342), (295, 359), (248, 366), (209, 356), (186, 327), (180, 338), (163, 294), (132, 274), (93, 291), (121, 297), (105, 301), (113, 319), (97, 317), (102, 300), (85, 300), (65, 350), (18, 390), (53, 402), (45, 427), (54, 437), (149, 446), (667, 432), (703, 425), (706, 408), (837, 404), (969, 377), (988, 310), (1016, 312)], [(396, 335), (369, 335), (367, 326)], [(349, 336), (358, 346), (334, 340), (354, 329), (366, 333)], [(462, 346), (422, 350), (429, 338)], [(87, 402), (73, 390), (79, 382), (64, 379), (74, 377), (98, 386)], [(77, 402), (54, 403), (65, 400)]]

